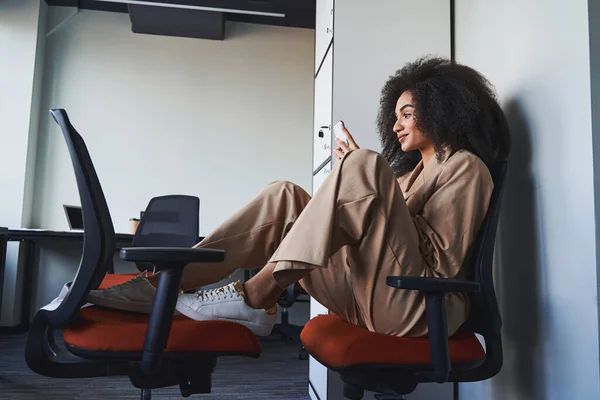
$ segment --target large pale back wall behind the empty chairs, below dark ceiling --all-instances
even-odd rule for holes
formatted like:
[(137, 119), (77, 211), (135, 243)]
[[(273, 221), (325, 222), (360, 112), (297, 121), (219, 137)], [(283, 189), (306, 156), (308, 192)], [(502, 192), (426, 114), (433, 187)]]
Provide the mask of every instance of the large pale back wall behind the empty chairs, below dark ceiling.
[[(50, 29), (71, 14), (52, 8)], [(310, 191), (313, 57), (312, 30), (235, 23), (208, 41), (80, 11), (47, 43), (34, 226), (68, 229), (62, 205), (79, 203), (50, 108), (86, 140), (117, 232), (157, 195), (198, 196), (204, 235), (271, 181)], [(73, 277), (77, 249), (62, 247), (42, 249), (38, 307)]]

